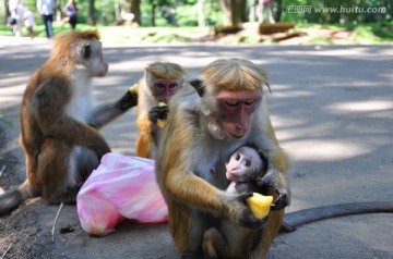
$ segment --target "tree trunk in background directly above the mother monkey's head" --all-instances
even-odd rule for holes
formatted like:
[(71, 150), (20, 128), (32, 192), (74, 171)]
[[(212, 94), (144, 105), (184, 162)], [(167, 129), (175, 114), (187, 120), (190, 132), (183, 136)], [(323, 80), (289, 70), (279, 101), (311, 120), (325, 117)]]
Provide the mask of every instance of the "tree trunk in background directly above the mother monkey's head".
[(238, 26), (246, 22), (247, 0), (219, 0), (225, 26)]

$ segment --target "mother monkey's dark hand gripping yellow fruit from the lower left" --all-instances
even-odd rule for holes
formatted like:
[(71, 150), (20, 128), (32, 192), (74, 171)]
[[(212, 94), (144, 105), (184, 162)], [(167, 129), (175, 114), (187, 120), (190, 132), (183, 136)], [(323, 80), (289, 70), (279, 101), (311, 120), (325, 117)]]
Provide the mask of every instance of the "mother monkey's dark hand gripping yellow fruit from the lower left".
[[(234, 205), (233, 209), (239, 211), (240, 217), (238, 219), (238, 223), (241, 226), (246, 226), (249, 229), (259, 229), (259, 227), (262, 227), (267, 222), (267, 217), (265, 217), (263, 219), (258, 219), (253, 214), (253, 212), (251, 211), (251, 209), (249, 208), (249, 206), (247, 203), (247, 199), (250, 198), (252, 195), (253, 195), (252, 192), (248, 192), (248, 193), (243, 193), (243, 194), (239, 195), (234, 200), (237, 205)], [(236, 214), (236, 211), (233, 211), (233, 212), (234, 212), (234, 214)], [(235, 219), (235, 221), (236, 221), (236, 219)]]

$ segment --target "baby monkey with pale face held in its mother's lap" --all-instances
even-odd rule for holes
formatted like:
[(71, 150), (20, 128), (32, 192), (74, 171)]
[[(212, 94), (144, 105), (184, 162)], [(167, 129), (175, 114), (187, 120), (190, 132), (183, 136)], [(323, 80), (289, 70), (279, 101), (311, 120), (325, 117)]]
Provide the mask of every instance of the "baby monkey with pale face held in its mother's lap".
[[(226, 163), (226, 177), (231, 181), (226, 192), (241, 194), (245, 192), (259, 193), (258, 178), (262, 177), (267, 170), (266, 156), (263, 150), (242, 146), (238, 148)], [(259, 231), (247, 227), (235, 229), (227, 220), (219, 223), (219, 227), (209, 229), (203, 236), (203, 251), (209, 258), (243, 258), (251, 248), (252, 242), (259, 238)], [(219, 231), (218, 231), (219, 230)], [(231, 235), (238, 231), (238, 236)], [(226, 236), (223, 237), (221, 232)], [(247, 242), (239, 242), (247, 240)]]

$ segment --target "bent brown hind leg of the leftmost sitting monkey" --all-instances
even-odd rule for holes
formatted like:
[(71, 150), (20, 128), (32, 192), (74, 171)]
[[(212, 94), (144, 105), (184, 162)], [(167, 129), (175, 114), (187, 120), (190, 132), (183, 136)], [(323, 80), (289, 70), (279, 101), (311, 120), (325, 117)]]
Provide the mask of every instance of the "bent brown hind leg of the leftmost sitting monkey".
[(41, 145), (37, 157), (36, 175), (32, 177), (36, 177), (39, 193), (50, 203), (76, 200), (76, 194), (74, 197), (63, 197), (72, 176), (70, 175), (71, 151), (71, 146), (55, 138), (47, 138)]

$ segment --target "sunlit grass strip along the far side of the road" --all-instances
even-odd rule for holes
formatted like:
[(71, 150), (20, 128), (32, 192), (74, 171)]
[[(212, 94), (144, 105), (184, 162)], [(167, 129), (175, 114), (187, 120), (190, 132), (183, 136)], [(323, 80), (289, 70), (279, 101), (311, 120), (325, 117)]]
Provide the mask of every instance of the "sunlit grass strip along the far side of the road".
[[(214, 37), (212, 28), (199, 27), (132, 27), (132, 26), (88, 26), (79, 24), (78, 29), (96, 28), (104, 42), (111, 44), (170, 44), (198, 42), (202, 39), (221, 40), (225, 44), (272, 44), (276, 36), (261, 36), (257, 29), (243, 29), (235, 35)], [(70, 30), (69, 25), (53, 23), (55, 34)], [(46, 37), (44, 25), (34, 28), (36, 37)], [(361, 25), (297, 24), (286, 34), (301, 33), (302, 42), (314, 45), (380, 45), (393, 44), (393, 23)], [(27, 37), (24, 28), (23, 34)], [(12, 32), (0, 25), (0, 35), (12, 36)], [(279, 35), (282, 36), (282, 35)], [(296, 41), (295, 41), (296, 44)]]

